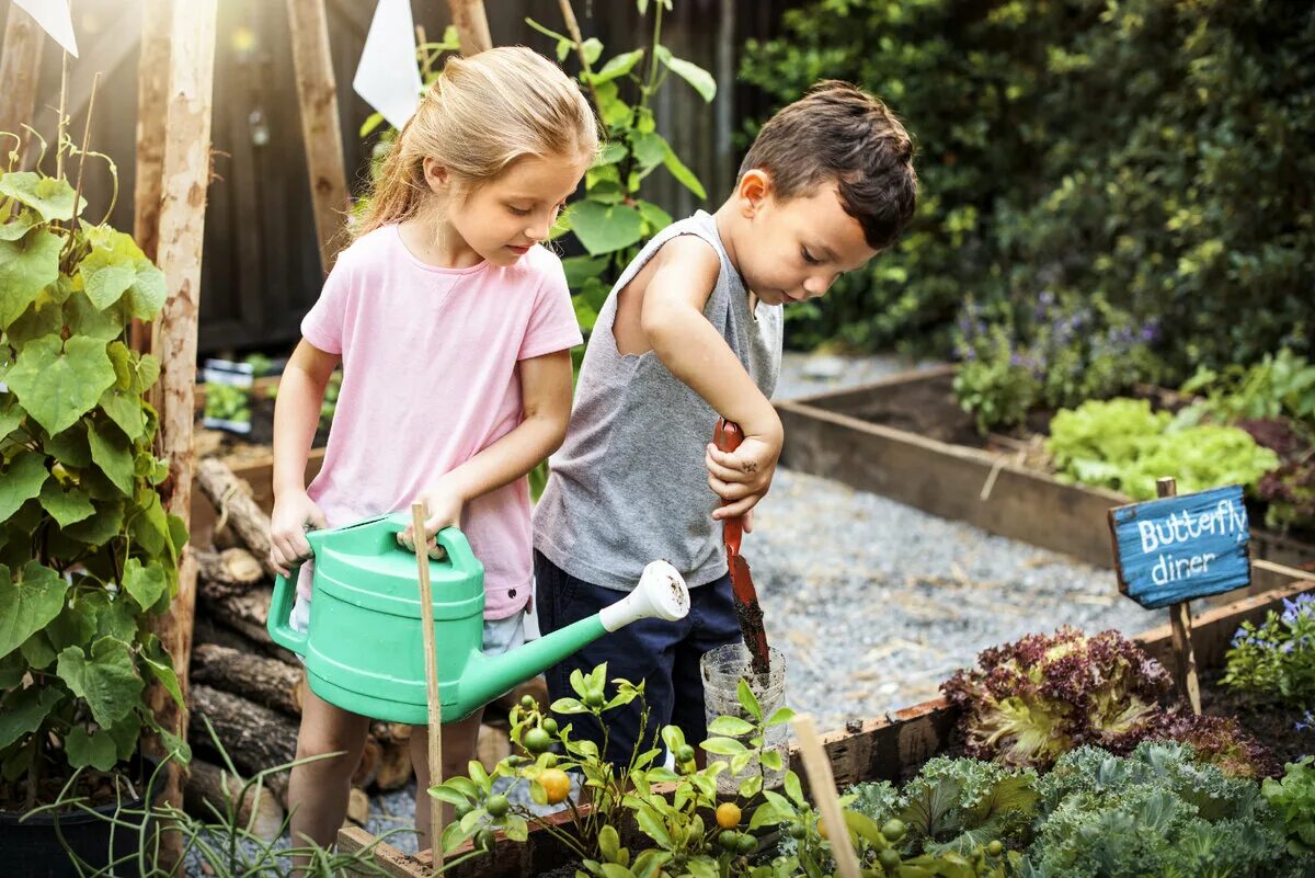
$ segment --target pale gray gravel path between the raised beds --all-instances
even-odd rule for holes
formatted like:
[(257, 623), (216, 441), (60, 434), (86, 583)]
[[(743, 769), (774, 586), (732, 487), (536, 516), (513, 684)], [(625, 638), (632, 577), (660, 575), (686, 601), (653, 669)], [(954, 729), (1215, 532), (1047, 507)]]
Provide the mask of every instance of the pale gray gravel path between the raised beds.
[[(777, 398), (825, 393), (918, 368), (899, 356), (786, 354)], [(778, 471), (744, 555), (786, 702), (821, 731), (926, 701), (980, 651), (1073, 624), (1136, 634), (1162, 622), (1120, 598), (1110, 570), (993, 536), (876, 494)], [(527, 800), (527, 790), (512, 798)], [(413, 825), (414, 786), (376, 797), (368, 829)], [(414, 837), (393, 844), (416, 849)]]

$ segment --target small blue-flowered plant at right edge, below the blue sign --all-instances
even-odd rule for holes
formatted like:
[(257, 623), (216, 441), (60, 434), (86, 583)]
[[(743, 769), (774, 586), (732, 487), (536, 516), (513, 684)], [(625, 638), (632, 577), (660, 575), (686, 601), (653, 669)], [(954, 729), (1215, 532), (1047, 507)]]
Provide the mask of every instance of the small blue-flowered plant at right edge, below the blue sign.
[(1315, 705), (1315, 594), (1283, 598), (1283, 611), (1258, 626), (1244, 622), (1226, 662), (1226, 686), (1265, 703)]

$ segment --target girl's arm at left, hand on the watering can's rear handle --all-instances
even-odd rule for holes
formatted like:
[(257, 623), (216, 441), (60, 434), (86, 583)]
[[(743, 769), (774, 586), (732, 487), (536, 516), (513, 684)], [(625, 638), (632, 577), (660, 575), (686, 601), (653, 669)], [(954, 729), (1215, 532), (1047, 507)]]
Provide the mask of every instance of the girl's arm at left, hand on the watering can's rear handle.
[(325, 517), (306, 496), (306, 459), (320, 423), (320, 406), (337, 354), (305, 339), (292, 352), (274, 405), (274, 513), (270, 515), (270, 560), (288, 573), (289, 565), (310, 556), (305, 527), (323, 527)]

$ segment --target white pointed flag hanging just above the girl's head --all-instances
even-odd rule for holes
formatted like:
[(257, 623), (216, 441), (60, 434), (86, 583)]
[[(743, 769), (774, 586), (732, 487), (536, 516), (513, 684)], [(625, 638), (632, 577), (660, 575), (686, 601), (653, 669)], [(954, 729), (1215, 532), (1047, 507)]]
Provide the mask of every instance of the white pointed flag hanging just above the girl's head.
[(410, 0), (379, 0), (351, 87), (398, 131), (416, 113), (422, 83)]

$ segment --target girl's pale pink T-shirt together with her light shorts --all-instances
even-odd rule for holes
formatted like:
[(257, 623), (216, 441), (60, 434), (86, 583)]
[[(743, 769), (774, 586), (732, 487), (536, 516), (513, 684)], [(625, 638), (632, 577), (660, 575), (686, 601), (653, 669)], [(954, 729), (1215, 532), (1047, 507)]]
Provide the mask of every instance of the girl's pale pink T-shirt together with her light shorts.
[[(323, 468), (308, 489), (330, 527), (409, 509), (521, 423), (518, 360), (581, 343), (556, 255), (533, 247), (508, 268), (437, 268), (394, 225), (338, 255), (301, 334), (343, 363)], [(527, 481), (467, 503), (462, 531), (484, 563), (484, 616), (525, 607)], [(302, 576), (302, 597), (309, 584)]]

